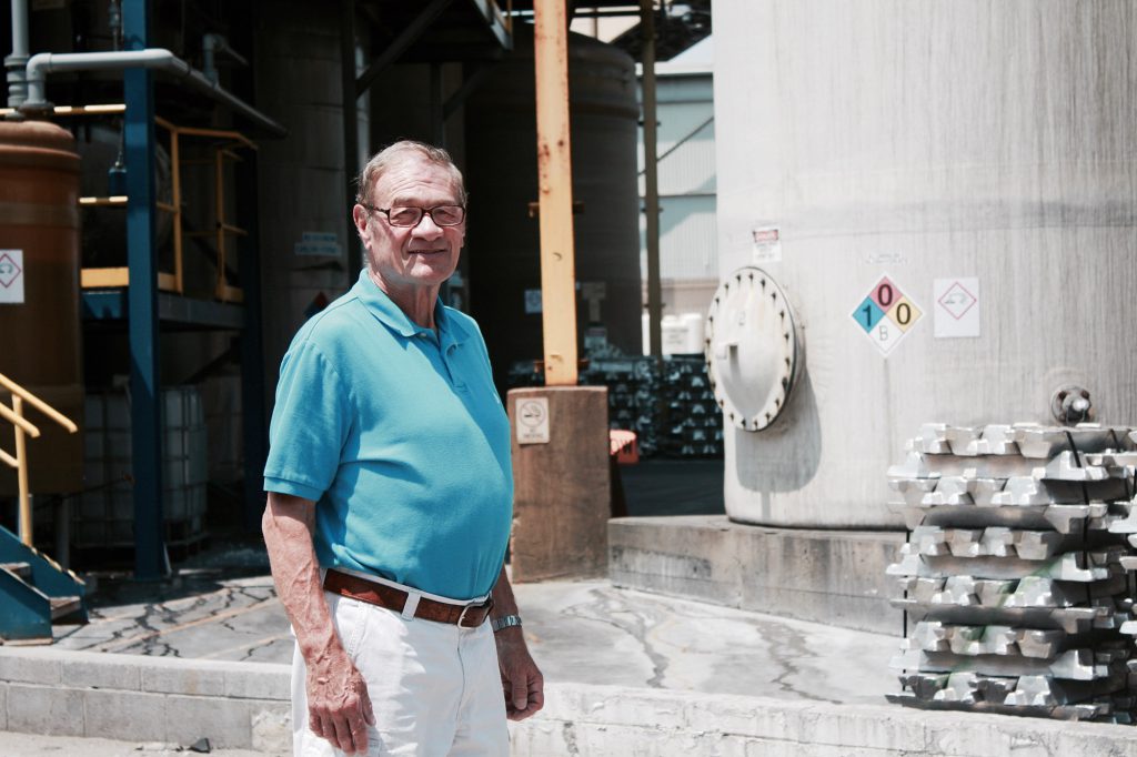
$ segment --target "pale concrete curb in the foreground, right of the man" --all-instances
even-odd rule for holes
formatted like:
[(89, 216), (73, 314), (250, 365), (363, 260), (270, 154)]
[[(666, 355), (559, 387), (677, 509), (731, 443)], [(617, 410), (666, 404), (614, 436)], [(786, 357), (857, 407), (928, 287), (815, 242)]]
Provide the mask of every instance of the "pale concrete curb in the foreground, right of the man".
[(512, 724), (514, 755), (723, 757), (1122, 757), (1137, 729), (893, 705), (561, 684)]

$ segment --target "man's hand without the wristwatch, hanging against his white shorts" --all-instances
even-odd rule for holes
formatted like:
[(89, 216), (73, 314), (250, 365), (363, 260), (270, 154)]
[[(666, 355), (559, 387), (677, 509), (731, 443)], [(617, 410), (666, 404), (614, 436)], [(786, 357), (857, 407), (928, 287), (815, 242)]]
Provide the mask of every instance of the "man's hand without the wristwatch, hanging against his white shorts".
[(346, 655), (308, 668), (308, 725), (346, 754), (367, 752), (367, 726), (375, 724), (367, 684)]

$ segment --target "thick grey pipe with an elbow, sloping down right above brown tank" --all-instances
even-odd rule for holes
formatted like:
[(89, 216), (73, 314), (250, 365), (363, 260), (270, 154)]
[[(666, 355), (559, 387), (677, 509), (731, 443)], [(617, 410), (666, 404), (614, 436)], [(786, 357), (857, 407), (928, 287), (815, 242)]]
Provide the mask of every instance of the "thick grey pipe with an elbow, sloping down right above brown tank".
[(287, 136), (288, 130), (244, 100), (233, 95), (188, 63), (163, 48), (118, 52), (39, 52), (27, 61), (27, 100), (20, 113), (40, 115), (51, 107), (45, 98), (47, 76), (61, 70), (124, 70), (149, 68), (171, 74), (186, 86), (227, 106), (274, 136)]

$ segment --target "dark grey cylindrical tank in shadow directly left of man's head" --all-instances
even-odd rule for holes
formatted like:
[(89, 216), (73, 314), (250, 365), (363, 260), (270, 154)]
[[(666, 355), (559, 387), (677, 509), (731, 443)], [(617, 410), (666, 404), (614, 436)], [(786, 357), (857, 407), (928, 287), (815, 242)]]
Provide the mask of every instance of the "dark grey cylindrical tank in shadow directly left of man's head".
[[(285, 0), (256, 15), (257, 103), (288, 124), (289, 136), (257, 152), (265, 375), (309, 316), (359, 273), (349, 255), (340, 18), (318, 3)], [(352, 166), (354, 173), (354, 166)]]

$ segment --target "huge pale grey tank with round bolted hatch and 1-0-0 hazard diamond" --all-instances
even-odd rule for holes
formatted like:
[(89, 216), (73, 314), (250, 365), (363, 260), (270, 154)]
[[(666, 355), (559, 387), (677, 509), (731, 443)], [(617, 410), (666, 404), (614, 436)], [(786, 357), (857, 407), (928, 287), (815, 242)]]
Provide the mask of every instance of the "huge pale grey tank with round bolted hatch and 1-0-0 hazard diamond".
[[(1065, 385), (1137, 422), (1135, 39), (1128, 0), (715, 6), (720, 275), (802, 342), (772, 422), (725, 424), (732, 519), (903, 527), (922, 423), (1055, 423)], [(728, 373), (782, 339), (737, 331)]]

